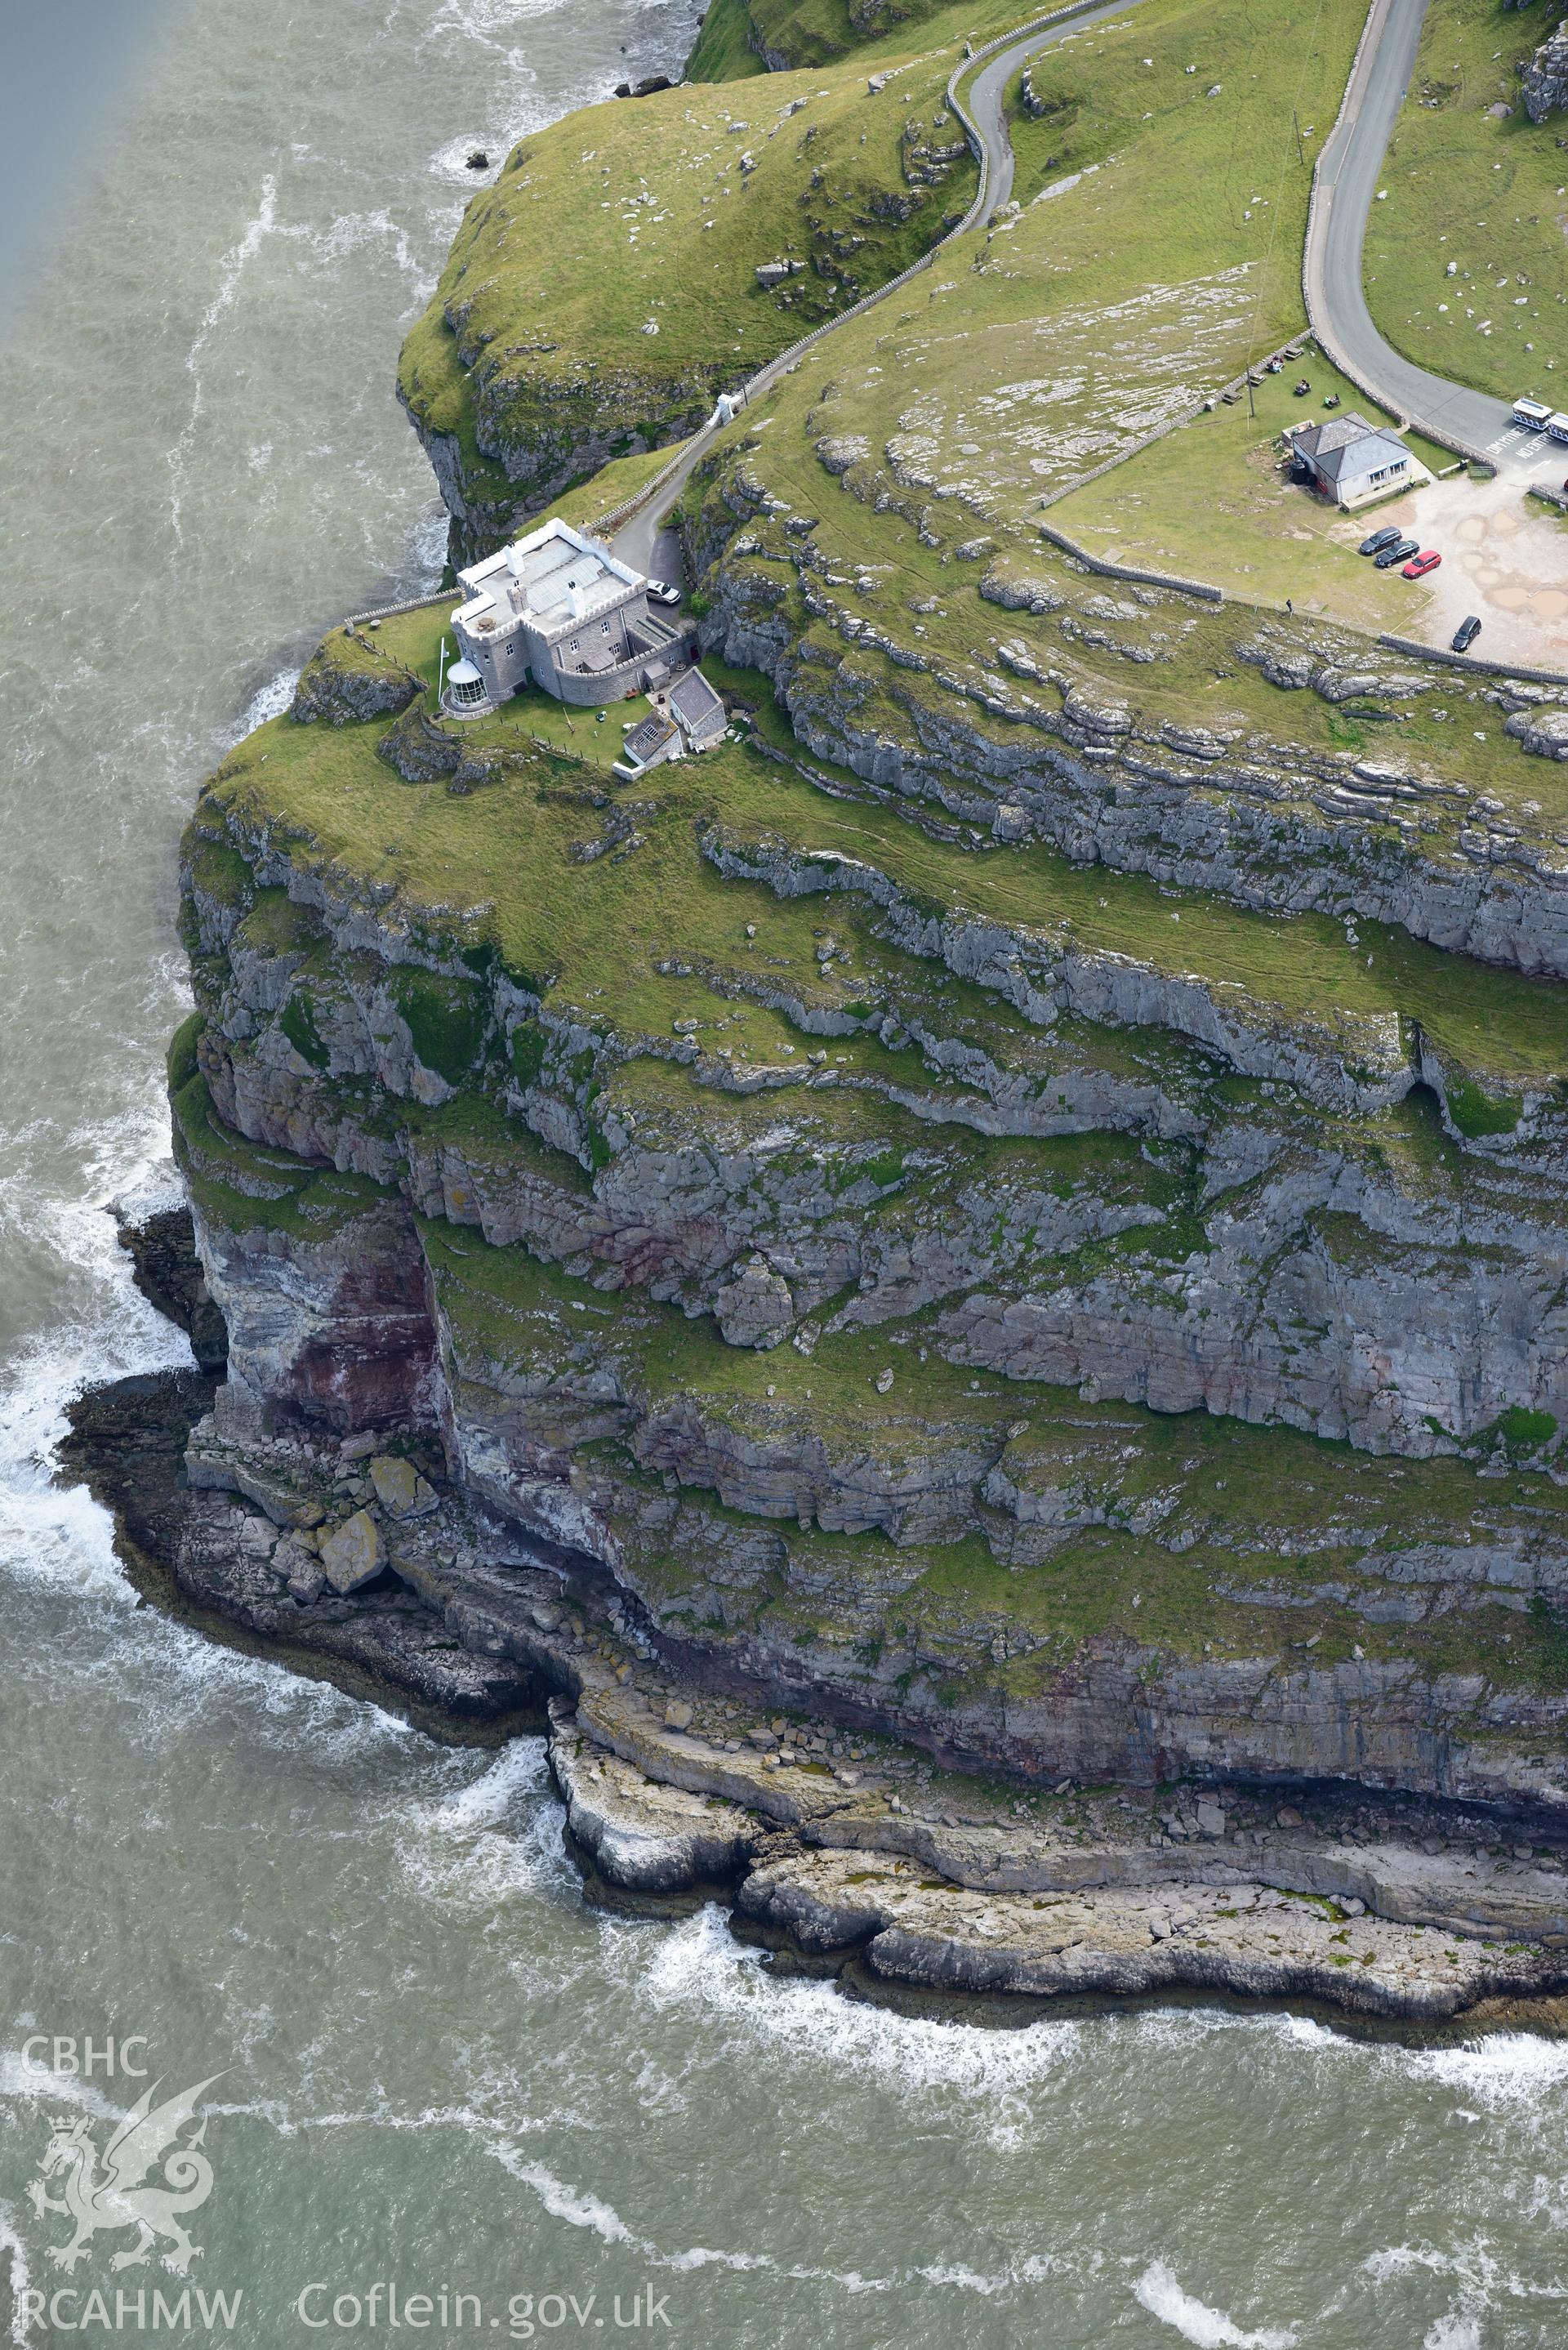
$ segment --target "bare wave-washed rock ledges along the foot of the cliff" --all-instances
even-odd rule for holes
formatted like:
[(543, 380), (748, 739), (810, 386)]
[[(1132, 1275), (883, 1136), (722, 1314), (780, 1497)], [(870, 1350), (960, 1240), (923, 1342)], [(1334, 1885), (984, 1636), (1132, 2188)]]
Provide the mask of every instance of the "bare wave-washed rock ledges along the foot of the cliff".
[[(1110, 1807), (1060, 1791), (1018, 1805), (933, 1777), (879, 1737), (851, 1746), (811, 1723), (769, 1723), (684, 1683), (679, 1657), (592, 1570), (520, 1553), (456, 1492), (418, 1499), (407, 1462), (397, 1476), (381, 1457), (374, 1476), (369, 1455), (364, 1476), (353, 1441), (226, 1448), (205, 1422), (190, 1452), (205, 1483), (181, 1490), (179, 1436), (209, 1396), (197, 1375), (165, 1375), (73, 1412), (66, 1457), (118, 1509), (134, 1556), (167, 1558), (200, 1619), (454, 1734), (487, 1734), (562, 1692), (552, 1772), (574, 1838), (614, 1885), (733, 1885), (743, 1915), (806, 1950), (856, 1948), (875, 1976), (940, 1990), (1307, 1993), (1425, 2023), (1568, 1979), (1556, 1845), (1500, 1859), (1476, 1814), (1418, 1807), (1373, 1824), (1331, 1795), (1312, 1800), (1312, 1819), (1286, 1810), (1274, 1824), (1276, 1800), (1220, 1784)], [(301, 1520), (327, 1523), (360, 1480), (388, 1570), (334, 1598), (310, 1574)], [(1507, 1833), (1519, 1840), (1519, 1826)]]

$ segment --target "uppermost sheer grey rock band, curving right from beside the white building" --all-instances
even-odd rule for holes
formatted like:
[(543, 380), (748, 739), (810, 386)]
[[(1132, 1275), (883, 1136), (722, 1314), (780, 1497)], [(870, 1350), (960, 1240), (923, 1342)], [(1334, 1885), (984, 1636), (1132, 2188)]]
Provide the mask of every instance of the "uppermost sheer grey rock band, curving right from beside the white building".
[[(757, 538), (759, 517), (778, 545)], [(929, 660), (832, 597), (809, 536), (788, 536), (792, 519), (748, 456), (729, 458), (701, 515), (712, 597), (703, 644), (766, 670), (816, 757), (969, 820), (1023, 808), (1039, 839), (1079, 862), (1279, 912), (1354, 909), (1450, 952), (1568, 973), (1568, 862), (1547, 844), (1488, 822), (1486, 811), (1448, 844), (1446, 830), (1422, 830), (1422, 806), (1441, 808), (1448, 787), (1418, 773), (1347, 776), (1302, 745), (1173, 757), (1159, 721), (1065, 674), (1039, 672), (1044, 693), (940, 667), (931, 684), (884, 679), (865, 651), (893, 670)], [(846, 644), (802, 642), (783, 609), (790, 583), (809, 618)], [(1335, 682), (1321, 656), (1298, 658), (1302, 674), (1281, 670), (1281, 684), (1321, 674), (1331, 698), (1340, 684), (1347, 696), (1385, 684), (1380, 665)], [(1399, 691), (1427, 684), (1406, 672)]]

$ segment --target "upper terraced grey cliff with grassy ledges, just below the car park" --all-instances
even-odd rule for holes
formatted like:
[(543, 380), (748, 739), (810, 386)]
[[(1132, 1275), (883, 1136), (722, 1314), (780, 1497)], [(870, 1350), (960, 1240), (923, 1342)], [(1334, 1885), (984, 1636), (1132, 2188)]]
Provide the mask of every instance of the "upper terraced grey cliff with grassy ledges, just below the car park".
[[(849, 482), (839, 456), (825, 435), (823, 470)], [(877, 468), (858, 486), (865, 503), (929, 529), (924, 501), (889, 491)], [(832, 540), (853, 536), (858, 519), (851, 512), (846, 529), (835, 517)], [(1081, 862), (1218, 888), (1244, 905), (1354, 909), (1448, 952), (1568, 973), (1563, 841), (1544, 827), (1530, 839), (1488, 792), (1399, 757), (1171, 719), (1159, 712), (1159, 674), (1138, 693), (1152, 705), (1145, 714), (1131, 689), (1088, 686), (1051, 656), (1041, 665), (1023, 637), (994, 642), (990, 660), (926, 651), (907, 611), (882, 618), (875, 578), (844, 562), (818, 512), (783, 498), (745, 451), (712, 470), (696, 531), (715, 588), (705, 642), (769, 672), (818, 759), (1006, 839), (1046, 839)], [(992, 545), (978, 540), (976, 552)], [(1060, 609), (1048, 573), (1041, 557), (1034, 573), (994, 566), (980, 595), (1013, 611)], [(1124, 658), (1147, 651), (1152, 663), (1175, 620), (1201, 627), (1220, 660), (1260, 670), (1286, 696), (1316, 686), (1331, 703), (1396, 703), (1439, 684), (1366, 639), (1338, 642), (1333, 627), (1305, 649), (1300, 630), (1208, 620), (1159, 590), (1140, 590), (1121, 618)], [(1523, 707), (1523, 696), (1502, 700)]]

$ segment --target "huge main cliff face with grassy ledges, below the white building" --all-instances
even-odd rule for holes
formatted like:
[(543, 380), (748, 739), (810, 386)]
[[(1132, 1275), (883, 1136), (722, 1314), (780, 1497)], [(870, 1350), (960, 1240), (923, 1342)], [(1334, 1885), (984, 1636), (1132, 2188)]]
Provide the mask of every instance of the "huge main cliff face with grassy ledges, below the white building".
[[(745, 557), (712, 578), (750, 630)], [(661, 813), (505, 728), (402, 780), (407, 714), (322, 733), (322, 691), (188, 839), (172, 1081), (230, 1349), (205, 1480), (247, 1445), (242, 1492), (277, 1443), (435, 1448), (475, 1556), (595, 1563), (682, 1668), (952, 1760), (1561, 1800), (1552, 1083), (1476, 1121), (1399, 1022), (938, 905), (905, 818), (875, 855), (790, 830), (778, 743)], [(849, 759), (818, 773), (811, 806), (853, 806)], [(738, 820), (748, 778), (783, 830)], [(938, 780), (945, 820), (973, 804)], [(353, 808), (451, 855), (527, 811), (562, 940), (574, 891), (618, 893), (614, 987), (357, 874)], [(802, 919), (790, 959), (769, 924)], [(806, 1050), (719, 1041), (752, 1013)], [(317, 1546), (371, 1542), (350, 1499)]]

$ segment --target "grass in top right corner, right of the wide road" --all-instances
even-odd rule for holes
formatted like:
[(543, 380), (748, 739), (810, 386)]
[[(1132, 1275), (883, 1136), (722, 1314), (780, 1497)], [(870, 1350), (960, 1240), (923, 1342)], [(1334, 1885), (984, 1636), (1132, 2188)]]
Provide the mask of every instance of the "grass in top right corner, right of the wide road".
[(1394, 348), (1500, 400), (1568, 400), (1568, 153), (1514, 70), (1559, 14), (1432, 0), (1366, 230), (1366, 298)]

